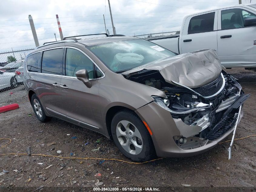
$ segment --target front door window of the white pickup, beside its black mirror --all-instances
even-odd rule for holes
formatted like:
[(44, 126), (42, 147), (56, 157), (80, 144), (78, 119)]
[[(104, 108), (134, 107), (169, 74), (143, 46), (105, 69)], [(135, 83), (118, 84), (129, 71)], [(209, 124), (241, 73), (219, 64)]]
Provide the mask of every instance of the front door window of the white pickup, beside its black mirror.
[(244, 19), (256, 17), (255, 14), (243, 9), (227, 9), (221, 11), (221, 29), (244, 27)]

